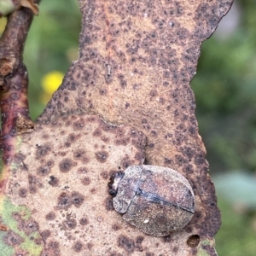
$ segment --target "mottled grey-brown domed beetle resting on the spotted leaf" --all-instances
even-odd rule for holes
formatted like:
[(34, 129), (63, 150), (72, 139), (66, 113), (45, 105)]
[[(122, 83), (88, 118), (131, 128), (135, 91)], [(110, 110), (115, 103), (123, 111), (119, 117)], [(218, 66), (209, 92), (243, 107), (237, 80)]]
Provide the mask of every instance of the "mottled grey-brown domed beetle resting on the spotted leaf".
[[(160, 166), (130, 166), (110, 184), (113, 207), (151, 236), (181, 230), (195, 213), (195, 195), (179, 172)], [(114, 191), (114, 193), (113, 193)]]

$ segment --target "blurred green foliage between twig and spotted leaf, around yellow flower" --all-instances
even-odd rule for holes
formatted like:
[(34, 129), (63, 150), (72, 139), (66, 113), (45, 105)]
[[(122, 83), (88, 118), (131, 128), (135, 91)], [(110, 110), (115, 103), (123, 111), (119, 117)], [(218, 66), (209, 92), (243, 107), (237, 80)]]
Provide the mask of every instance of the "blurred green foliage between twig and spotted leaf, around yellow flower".
[[(54, 70), (66, 73), (78, 58), (81, 14), (76, 0), (44, 0), (32, 22), (26, 41), (24, 62), (30, 76), (29, 103), (32, 119), (43, 112), (46, 100), (44, 76)], [(53, 84), (55, 86), (55, 84)]]

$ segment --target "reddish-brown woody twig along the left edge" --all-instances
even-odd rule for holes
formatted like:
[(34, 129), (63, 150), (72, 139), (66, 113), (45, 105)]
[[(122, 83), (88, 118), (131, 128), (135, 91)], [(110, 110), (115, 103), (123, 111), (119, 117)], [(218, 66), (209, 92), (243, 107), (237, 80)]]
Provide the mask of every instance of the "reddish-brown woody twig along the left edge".
[(16, 10), (9, 15), (7, 26), (0, 38), (1, 149), (3, 151), (0, 191), (2, 193), (8, 180), (10, 166), (17, 153), (19, 143), (17, 135), (31, 131), (33, 128), (27, 101), (28, 74), (23, 64), (23, 50), (32, 19), (31, 9), (23, 7)]

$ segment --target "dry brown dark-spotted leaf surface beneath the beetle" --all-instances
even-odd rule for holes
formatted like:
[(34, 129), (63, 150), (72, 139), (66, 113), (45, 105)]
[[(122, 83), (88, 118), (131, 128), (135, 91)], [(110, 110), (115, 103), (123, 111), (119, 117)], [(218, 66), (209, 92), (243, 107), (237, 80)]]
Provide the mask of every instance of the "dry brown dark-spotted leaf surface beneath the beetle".
[[(189, 81), (201, 42), (232, 1), (79, 3), (79, 60), (36, 131), (21, 137), (20, 169), (3, 200), (12, 209), (2, 210), (4, 247), (35, 248), (29, 255), (216, 255), (220, 214)], [(126, 224), (108, 196), (110, 174), (143, 160), (181, 172), (195, 193), (192, 221), (164, 238)]]

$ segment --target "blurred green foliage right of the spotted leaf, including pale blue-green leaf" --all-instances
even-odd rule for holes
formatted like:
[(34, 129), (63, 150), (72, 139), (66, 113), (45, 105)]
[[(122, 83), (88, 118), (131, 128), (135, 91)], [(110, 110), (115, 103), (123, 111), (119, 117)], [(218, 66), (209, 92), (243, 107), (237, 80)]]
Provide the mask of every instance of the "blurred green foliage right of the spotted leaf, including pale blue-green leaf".
[[(256, 169), (256, 4), (240, 3), (241, 26), (230, 38), (212, 36), (202, 44), (191, 83), (207, 160), (211, 172), (219, 174), (215, 181), (222, 212), (216, 236), (219, 256), (253, 256), (256, 252), (256, 211), (248, 207), (248, 201), (255, 199), (249, 188), (255, 183)], [(245, 175), (234, 170), (247, 170), (251, 175), (240, 177)], [(236, 209), (239, 205), (243, 211)]]

